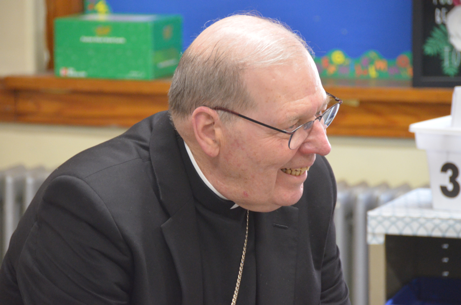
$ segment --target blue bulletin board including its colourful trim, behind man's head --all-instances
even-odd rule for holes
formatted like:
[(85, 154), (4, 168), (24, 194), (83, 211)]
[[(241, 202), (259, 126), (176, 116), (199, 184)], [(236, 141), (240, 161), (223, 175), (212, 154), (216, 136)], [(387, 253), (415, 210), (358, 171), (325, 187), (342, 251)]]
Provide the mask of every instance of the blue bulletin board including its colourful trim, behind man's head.
[[(181, 14), (183, 47), (211, 20), (256, 10), (297, 30), (316, 54), (321, 76), (411, 79), (411, 0), (86, 0), (86, 11)], [(373, 70), (374, 69), (374, 70)]]

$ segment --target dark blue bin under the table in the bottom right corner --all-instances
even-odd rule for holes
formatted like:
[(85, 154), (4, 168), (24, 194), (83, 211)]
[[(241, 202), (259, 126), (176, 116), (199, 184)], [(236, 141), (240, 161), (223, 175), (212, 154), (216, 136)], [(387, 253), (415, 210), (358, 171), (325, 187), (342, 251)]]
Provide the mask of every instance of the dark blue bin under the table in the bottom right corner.
[(386, 305), (459, 305), (461, 279), (419, 277), (404, 286)]

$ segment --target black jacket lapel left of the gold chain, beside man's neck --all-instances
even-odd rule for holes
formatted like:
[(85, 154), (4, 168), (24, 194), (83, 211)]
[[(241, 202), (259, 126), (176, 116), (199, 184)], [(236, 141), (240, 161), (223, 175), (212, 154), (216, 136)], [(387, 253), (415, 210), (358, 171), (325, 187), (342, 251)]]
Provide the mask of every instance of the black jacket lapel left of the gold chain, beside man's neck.
[(154, 125), (150, 154), (160, 203), (170, 214), (163, 236), (178, 273), (182, 304), (203, 304), (202, 265), (194, 198), (184, 169), (175, 132), (167, 113)]

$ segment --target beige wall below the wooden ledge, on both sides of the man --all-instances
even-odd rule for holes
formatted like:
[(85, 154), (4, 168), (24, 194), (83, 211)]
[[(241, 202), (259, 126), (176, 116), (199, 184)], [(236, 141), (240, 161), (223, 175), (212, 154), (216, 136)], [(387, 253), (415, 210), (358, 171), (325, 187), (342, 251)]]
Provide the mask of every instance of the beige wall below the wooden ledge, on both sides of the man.
[[(124, 132), (123, 128), (0, 124), (0, 168), (15, 164), (55, 168), (79, 151)], [(429, 184), (426, 153), (411, 139), (330, 137), (328, 160), (338, 181), (382, 182), (391, 187)]]

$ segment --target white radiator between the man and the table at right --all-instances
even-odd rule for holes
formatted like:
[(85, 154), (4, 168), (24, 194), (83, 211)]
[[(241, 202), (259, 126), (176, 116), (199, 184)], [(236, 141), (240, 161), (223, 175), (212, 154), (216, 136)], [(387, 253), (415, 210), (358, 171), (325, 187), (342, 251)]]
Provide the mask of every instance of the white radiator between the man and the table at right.
[(387, 184), (369, 186), (366, 183), (348, 185), (338, 182), (338, 200), (334, 211), (336, 240), (344, 279), (354, 305), (368, 304), (367, 211), (410, 190), (406, 184), (390, 188)]

